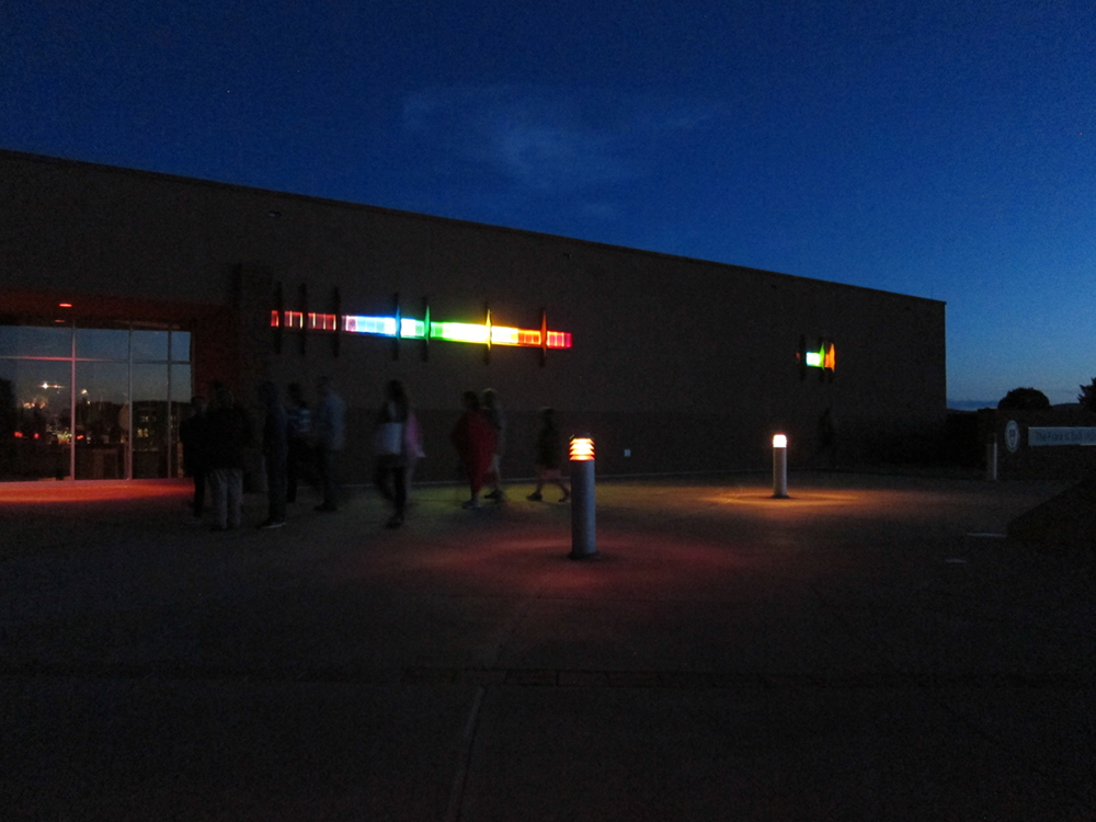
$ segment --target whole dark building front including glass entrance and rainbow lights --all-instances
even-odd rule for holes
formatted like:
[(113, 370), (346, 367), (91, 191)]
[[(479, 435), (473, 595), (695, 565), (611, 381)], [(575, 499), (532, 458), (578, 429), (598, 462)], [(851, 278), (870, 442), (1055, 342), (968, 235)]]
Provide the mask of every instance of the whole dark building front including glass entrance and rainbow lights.
[(349, 479), (384, 383), (454, 479), (460, 393), (507, 413), (530, 476), (540, 407), (603, 473), (792, 467), (926, 447), (946, 415), (943, 302), (527, 231), (0, 152), (0, 476), (178, 476), (214, 381), (330, 376)]

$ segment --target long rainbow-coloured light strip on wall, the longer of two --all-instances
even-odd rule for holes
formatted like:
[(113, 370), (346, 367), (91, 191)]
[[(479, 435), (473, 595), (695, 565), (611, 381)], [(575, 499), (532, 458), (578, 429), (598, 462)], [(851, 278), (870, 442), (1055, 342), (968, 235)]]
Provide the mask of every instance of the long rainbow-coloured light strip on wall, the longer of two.
[[(307, 329), (308, 331), (339, 330), (339, 316), (333, 313), (304, 313), (301, 311), (271, 311), (272, 328)], [(427, 331), (429, 329), (429, 331)], [(350, 334), (369, 334), (400, 340), (445, 340), (447, 342), (516, 345), (522, 347), (570, 349), (571, 334), (548, 329), (522, 329), (495, 326), (490, 322), (433, 322), (409, 317), (361, 317), (344, 315), (342, 330)]]

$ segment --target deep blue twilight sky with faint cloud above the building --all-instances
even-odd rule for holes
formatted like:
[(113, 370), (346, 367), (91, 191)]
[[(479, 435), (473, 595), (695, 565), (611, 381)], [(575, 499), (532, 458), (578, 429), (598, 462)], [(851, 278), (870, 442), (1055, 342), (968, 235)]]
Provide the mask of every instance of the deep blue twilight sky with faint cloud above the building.
[[(1096, 376), (1092, 0), (0, 0), (0, 147), (948, 304)], [(915, 356), (915, 352), (911, 352)]]

